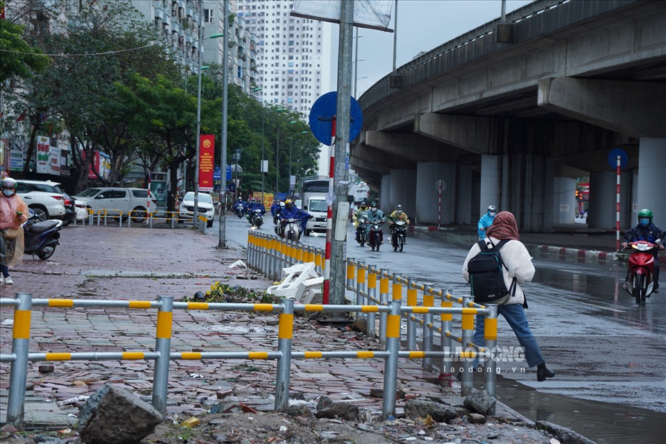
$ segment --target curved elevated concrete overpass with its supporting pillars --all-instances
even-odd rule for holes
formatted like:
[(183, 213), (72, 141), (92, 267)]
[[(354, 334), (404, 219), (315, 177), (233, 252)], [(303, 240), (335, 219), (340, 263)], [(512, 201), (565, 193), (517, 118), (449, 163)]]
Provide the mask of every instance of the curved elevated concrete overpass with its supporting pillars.
[(422, 54), (359, 99), (350, 164), (418, 223), (476, 223), (488, 205), (525, 232), (573, 223), (577, 177), (590, 176), (588, 226), (643, 207), (666, 228), (666, 2), (541, 0)]

